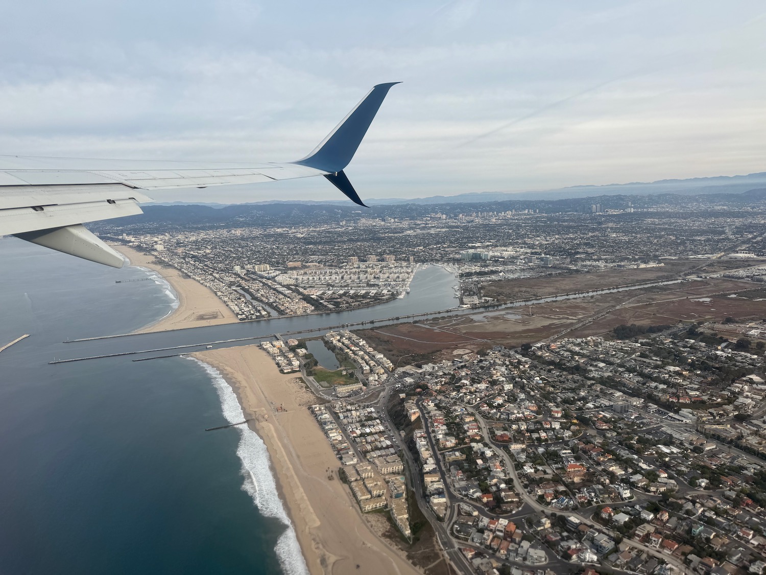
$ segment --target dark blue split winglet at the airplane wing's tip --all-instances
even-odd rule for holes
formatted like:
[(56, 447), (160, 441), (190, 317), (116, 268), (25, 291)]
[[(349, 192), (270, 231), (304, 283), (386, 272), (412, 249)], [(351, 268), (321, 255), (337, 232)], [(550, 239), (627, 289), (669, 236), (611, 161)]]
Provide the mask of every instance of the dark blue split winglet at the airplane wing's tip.
[[(342, 173), (342, 169), (349, 165), (356, 149), (359, 147), (359, 143), (365, 137), (372, 119), (378, 113), (381, 104), (383, 104), (383, 99), (388, 94), (388, 90), (391, 90), (391, 86), (396, 84), (401, 84), (401, 82), (389, 82), (388, 84), (378, 84), (373, 87), (364, 99), (356, 104), (356, 107), (343, 118), (335, 130), (332, 130), (322, 140), (322, 143), (313, 149), (312, 153), (293, 163), (309, 166), (309, 168), (321, 169), (323, 172), (332, 172), (337, 177), (337, 174), (339, 172)], [(343, 178), (345, 179), (345, 176)], [(332, 179), (330, 181), (338, 186)], [(349, 182), (349, 180), (345, 179), (345, 182)], [(338, 187), (345, 195), (349, 195), (345, 189), (340, 186)], [(348, 187), (351, 188), (350, 183)], [(353, 188), (351, 190), (353, 191)], [(356, 192), (354, 192), (354, 195), (356, 195)], [(364, 205), (358, 199), (358, 195), (356, 195), (356, 199), (351, 195), (349, 195), (349, 198), (359, 205)]]

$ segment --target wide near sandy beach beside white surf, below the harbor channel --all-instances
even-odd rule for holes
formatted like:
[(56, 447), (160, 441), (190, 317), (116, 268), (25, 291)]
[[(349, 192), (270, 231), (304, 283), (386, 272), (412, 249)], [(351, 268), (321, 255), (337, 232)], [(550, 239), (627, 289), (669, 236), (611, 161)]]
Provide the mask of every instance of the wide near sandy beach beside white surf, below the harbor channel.
[[(371, 530), (339, 480), (339, 461), (306, 409), (318, 399), (302, 380), (280, 373), (256, 346), (194, 357), (220, 371), (245, 416), (256, 418), (249, 425), (267, 445), (311, 573), (421, 573)], [(277, 412), (278, 407), (284, 411)]]

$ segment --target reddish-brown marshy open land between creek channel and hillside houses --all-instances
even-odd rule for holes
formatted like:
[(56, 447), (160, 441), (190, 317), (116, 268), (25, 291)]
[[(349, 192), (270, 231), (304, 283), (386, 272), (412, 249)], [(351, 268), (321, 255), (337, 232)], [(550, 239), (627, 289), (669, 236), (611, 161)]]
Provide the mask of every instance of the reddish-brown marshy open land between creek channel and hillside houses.
[[(729, 297), (744, 294), (745, 297)], [(760, 296), (760, 297), (758, 297)], [(532, 307), (476, 311), (419, 324), (365, 330), (373, 347), (401, 365), (454, 357), (457, 349), (478, 351), (501, 344), (518, 347), (549, 337), (604, 335), (620, 324), (674, 325), (679, 321), (722, 321), (766, 317), (766, 291), (754, 284), (714, 278)]]

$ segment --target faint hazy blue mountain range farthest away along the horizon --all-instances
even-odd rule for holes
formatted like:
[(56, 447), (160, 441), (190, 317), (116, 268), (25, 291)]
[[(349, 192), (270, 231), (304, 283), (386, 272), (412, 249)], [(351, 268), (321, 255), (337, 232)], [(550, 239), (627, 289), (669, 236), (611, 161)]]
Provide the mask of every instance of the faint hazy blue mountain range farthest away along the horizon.
[[(630, 182), (627, 184), (607, 184), (605, 186), (571, 186), (561, 189), (549, 189), (540, 192), (470, 192), (457, 195), (431, 195), (427, 198), (371, 198), (365, 199), (367, 205), (396, 204), (452, 204), (506, 202), (508, 200), (555, 200), (589, 198), (601, 195), (657, 195), (657, 194), (737, 194), (755, 188), (766, 187), (766, 172), (747, 176), (714, 176), (711, 178), (661, 179), (656, 182)], [(270, 200), (267, 202), (248, 202), (244, 205), (264, 204), (338, 204), (352, 205), (345, 199), (337, 200)], [(220, 203), (202, 202), (162, 202), (152, 205), (207, 205), (211, 208), (223, 208)]]

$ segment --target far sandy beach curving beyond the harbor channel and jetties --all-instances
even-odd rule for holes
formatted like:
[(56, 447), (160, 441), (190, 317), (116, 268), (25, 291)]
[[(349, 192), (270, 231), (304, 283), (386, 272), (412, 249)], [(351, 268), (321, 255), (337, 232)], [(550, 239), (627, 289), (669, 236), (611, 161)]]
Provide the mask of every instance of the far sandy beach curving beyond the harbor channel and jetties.
[(178, 294), (178, 307), (169, 316), (143, 327), (137, 333), (237, 323), (238, 320), (234, 313), (204, 285), (198, 284), (190, 278), (182, 278), (175, 268), (162, 268), (162, 266), (152, 264), (154, 260), (152, 256), (126, 245), (112, 245), (112, 247), (128, 258), (130, 265), (149, 268), (162, 275)]

